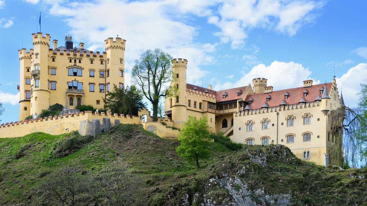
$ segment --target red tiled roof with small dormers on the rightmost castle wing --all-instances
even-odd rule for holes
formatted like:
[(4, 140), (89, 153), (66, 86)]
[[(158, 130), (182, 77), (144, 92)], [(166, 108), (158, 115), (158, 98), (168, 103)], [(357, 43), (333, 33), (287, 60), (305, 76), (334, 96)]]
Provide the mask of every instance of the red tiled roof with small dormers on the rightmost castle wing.
[[(327, 83), (327, 89), (330, 91), (330, 88), (332, 87), (333, 83)], [(317, 95), (320, 94), (320, 88), (325, 87), (325, 84), (317, 84), (312, 85), (311, 87), (308, 87), (308, 94), (307, 96), (303, 96), (303, 92), (305, 91), (304, 87), (298, 87), (298, 88), (292, 88), (292, 89), (283, 89), (278, 91), (273, 91), (271, 93), (258, 93), (253, 95), (247, 95), (245, 101), (247, 102), (250, 98), (254, 99), (254, 101), (251, 103), (250, 108), (253, 109), (259, 109), (261, 106), (266, 102), (266, 96), (270, 95), (271, 99), (269, 100), (268, 106), (269, 107), (276, 107), (279, 106), (281, 101), (284, 99), (284, 95), (286, 92), (289, 93), (288, 99), (284, 99), (287, 102), (287, 105), (290, 104), (298, 104), (299, 100), (301, 100), (302, 97), (305, 98), (306, 102), (315, 102), (315, 99), (317, 98)], [(218, 97), (217, 97), (218, 99)]]

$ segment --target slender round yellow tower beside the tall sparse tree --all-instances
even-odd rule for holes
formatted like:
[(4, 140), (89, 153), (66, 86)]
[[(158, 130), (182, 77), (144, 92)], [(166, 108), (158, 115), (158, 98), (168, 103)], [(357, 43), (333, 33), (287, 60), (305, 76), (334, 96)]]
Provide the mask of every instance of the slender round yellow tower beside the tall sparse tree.
[[(178, 98), (172, 97), (172, 120), (175, 126), (182, 128), (183, 123), (186, 122), (186, 59), (172, 59), (172, 70), (176, 77), (176, 81), (171, 83), (171, 86), (178, 87)], [(178, 100), (178, 101), (177, 101)]]

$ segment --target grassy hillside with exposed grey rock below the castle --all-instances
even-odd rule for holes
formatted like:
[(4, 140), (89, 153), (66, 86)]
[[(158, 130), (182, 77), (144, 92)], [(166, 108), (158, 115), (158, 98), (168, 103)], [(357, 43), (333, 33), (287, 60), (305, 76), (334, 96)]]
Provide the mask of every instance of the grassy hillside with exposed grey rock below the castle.
[(0, 139), (0, 205), (47, 205), (40, 184), (61, 168), (94, 176), (116, 164), (141, 180), (144, 205), (367, 205), (366, 169), (317, 166), (280, 145), (237, 152), (219, 143), (211, 143), (211, 158), (196, 169), (178, 157), (178, 145), (123, 124), (95, 138), (37, 132)]

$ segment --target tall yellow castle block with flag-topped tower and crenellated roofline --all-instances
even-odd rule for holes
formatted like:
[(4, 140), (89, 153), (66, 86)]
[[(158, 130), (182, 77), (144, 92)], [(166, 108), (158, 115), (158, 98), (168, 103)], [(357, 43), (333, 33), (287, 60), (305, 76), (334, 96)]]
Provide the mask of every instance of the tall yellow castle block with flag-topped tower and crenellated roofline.
[(101, 108), (102, 98), (113, 84), (123, 87), (126, 40), (108, 38), (106, 51), (93, 52), (84, 49), (84, 43), (74, 46), (69, 37), (65, 47), (58, 47), (58, 40), (53, 40), (52, 48), (50, 34), (34, 33), (32, 39), (33, 49), (19, 50), (19, 119), (39, 114), (55, 103), (66, 108), (79, 104)]

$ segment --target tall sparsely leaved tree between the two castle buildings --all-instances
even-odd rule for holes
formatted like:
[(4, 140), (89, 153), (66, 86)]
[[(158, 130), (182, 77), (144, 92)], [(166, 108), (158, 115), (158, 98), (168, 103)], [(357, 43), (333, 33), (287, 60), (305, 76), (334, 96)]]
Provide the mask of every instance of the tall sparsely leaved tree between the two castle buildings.
[(135, 60), (132, 67), (132, 83), (139, 85), (144, 96), (152, 103), (153, 121), (158, 120), (159, 98), (176, 96), (178, 89), (166, 87), (165, 84), (174, 80), (171, 66), (172, 56), (159, 48), (148, 49)]

